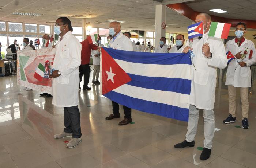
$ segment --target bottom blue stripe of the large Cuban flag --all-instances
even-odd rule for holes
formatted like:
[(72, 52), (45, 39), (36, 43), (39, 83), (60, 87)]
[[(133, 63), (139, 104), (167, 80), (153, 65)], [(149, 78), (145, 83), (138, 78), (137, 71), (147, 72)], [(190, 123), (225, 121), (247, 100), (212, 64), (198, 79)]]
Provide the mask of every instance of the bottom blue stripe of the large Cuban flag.
[(104, 96), (132, 109), (188, 122), (189, 109), (137, 99), (114, 91), (110, 91)]

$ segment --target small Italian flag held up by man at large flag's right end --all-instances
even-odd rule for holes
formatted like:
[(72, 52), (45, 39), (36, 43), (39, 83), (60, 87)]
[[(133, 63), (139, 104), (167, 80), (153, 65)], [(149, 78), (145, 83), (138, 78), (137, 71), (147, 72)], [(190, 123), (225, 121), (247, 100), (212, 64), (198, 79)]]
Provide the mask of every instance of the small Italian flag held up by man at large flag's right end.
[(231, 24), (229, 23), (211, 22), (209, 36), (227, 39), (230, 27)]

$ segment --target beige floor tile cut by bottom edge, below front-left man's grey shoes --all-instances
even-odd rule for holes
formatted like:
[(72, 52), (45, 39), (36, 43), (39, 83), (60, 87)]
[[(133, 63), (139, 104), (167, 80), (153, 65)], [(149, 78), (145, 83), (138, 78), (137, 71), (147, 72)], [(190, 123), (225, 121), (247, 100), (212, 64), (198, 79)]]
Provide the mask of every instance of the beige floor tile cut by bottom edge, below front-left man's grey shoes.
[(72, 156), (61, 158), (56, 161), (62, 168), (79, 168), (79, 167), (95, 167), (99, 165), (99, 161), (95, 160), (93, 157), (87, 153), (78, 153)]

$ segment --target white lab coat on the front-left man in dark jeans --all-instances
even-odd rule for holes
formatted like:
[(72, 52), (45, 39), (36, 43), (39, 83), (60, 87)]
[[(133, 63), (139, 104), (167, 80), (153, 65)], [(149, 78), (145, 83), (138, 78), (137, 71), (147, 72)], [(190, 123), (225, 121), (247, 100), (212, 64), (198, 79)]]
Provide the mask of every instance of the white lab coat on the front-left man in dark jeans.
[(78, 105), (79, 66), (81, 65), (82, 45), (78, 39), (67, 32), (57, 43), (53, 68), (61, 75), (53, 78), (52, 103), (59, 107)]

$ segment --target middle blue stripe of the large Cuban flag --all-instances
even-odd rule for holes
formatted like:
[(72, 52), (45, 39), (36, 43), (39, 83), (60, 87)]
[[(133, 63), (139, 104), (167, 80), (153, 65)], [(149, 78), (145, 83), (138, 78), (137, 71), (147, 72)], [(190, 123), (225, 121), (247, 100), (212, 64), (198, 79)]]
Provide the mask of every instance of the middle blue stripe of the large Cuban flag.
[[(128, 74), (128, 73), (127, 73)], [(146, 89), (172, 91), (182, 94), (190, 94), (191, 80), (181, 78), (146, 77), (128, 74), (131, 81), (127, 85), (142, 87)]]

